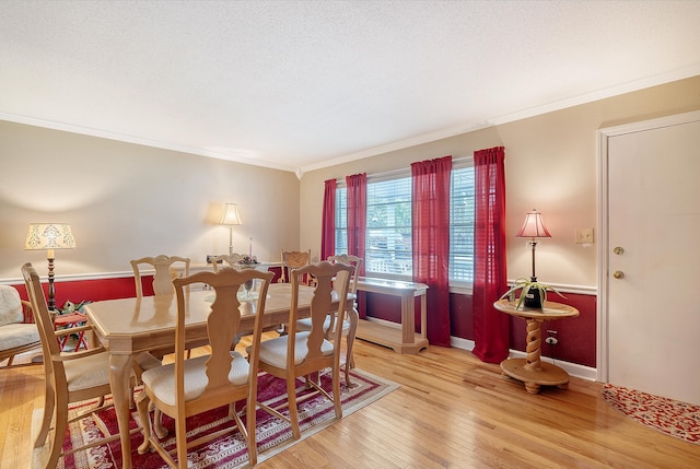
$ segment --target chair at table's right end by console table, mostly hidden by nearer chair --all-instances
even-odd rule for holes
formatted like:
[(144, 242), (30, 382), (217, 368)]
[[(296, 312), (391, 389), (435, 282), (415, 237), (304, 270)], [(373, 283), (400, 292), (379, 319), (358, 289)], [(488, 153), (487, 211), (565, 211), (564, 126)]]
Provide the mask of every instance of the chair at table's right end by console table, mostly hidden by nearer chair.
[[(348, 308), (348, 316), (341, 323), (342, 336), (346, 337), (346, 361), (345, 361), (345, 377), (348, 386), (352, 385), (350, 382), (350, 370), (354, 368), (354, 359), (352, 356), (352, 345), (354, 343), (354, 336), (358, 330), (358, 320), (360, 320), (360, 314), (358, 313), (358, 279), (360, 278), (360, 267), (362, 266), (362, 258), (348, 254), (339, 254), (336, 256), (328, 256), (328, 261), (331, 263), (345, 263), (352, 266), (352, 277), (350, 279), (350, 288), (348, 293), (352, 298), (352, 309)], [(328, 315), (324, 321), (324, 329), (326, 330), (326, 338), (332, 340), (334, 327), (338, 325), (335, 320), (335, 315)], [(311, 318), (303, 318), (296, 321), (296, 330), (311, 330)]]

